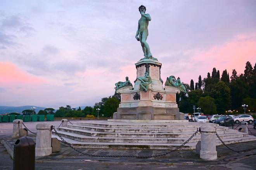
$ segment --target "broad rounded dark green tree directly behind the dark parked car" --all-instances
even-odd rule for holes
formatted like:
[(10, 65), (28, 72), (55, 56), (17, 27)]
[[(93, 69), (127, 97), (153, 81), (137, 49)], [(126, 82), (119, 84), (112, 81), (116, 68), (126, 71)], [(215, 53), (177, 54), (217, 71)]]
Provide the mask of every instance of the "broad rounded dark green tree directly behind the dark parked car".
[(230, 88), (223, 81), (218, 82), (211, 89), (210, 97), (215, 100), (217, 111), (222, 114), (231, 107)]

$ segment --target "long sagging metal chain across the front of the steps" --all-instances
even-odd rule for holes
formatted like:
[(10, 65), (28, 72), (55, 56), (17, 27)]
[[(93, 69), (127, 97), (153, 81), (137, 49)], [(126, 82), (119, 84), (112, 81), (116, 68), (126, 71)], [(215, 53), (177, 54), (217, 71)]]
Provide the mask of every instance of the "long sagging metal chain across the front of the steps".
[(73, 150), (83, 154), (83, 155), (86, 155), (86, 156), (94, 156), (94, 157), (126, 157), (126, 158), (156, 158), (156, 157), (159, 157), (159, 156), (164, 156), (164, 155), (167, 155), (167, 154), (170, 154), (170, 153), (173, 153), (174, 151), (180, 149), (182, 146), (186, 145), (197, 133), (198, 133), (198, 128), (197, 128), (197, 131), (195, 131), (195, 133), (192, 134), (192, 136), (190, 136), (189, 139), (187, 139), (187, 141), (185, 141), (182, 145), (178, 146), (177, 148), (175, 148), (175, 150), (172, 150), (172, 151), (169, 151), (169, 152), (165, 152), (165, 153), (161, 153), (161, 154), (158, 154), (158, 155), (151, 155), (151, 156), (136, 156), (136, 155), (92, 155), (92, 154), (88, 154), (88, 153), (83, 153), (82, 151), (80, 150), (77, 150), (76, 148), (74, 148), (73, 146), (71, 146), (70, 143), (67, 143), (67, 141), (65, 139), (62, 138), (62, 136), (57, 133), (56, 129), (53, 127), (53, 130), (55, 132), (55, 134), (57, 134), (57, 136), (59, 136), (59, 138), (61, 138), (61, 140), (66, 143), (67, 146), (69, 146), (70, 148), (72, 148)]

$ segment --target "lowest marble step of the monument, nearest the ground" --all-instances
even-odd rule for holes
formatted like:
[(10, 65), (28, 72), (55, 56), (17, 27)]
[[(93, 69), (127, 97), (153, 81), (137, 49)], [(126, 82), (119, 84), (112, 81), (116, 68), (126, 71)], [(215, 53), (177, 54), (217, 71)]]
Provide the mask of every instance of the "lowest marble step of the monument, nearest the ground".
[[(52, 137), (58, 138), (62, 144), (65, 144), (57, 135), (52, 134)], [(63, 137), (67, 143), (75, 148), (102, 148), (102, 149), (159, 149), (159, 150), (174, 150), (182, 143), (110, 143), (110, 142), (80, 142), (73, 139)], [(226, 144), (255, 141), (255, 136), (246, 136), (239, 138), (223, 139)], [(195, 149), (197, 142), (187, 143), (180, 148), (181, 150)], [(216, 139), (216, 145), (222, 145), (219, 139)]]

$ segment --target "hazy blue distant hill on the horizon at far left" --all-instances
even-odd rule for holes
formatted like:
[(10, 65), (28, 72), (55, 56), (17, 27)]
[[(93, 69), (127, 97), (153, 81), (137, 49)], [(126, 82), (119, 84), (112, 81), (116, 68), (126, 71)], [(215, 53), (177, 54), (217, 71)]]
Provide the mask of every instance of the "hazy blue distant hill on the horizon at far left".
[(0, 114), (6, 114), (6, 113), (12, 113), (12, 112), (17, 112), (17, 113), (22, 113), (23, 110), (26, 109), (31, 109), (31, 107), (36, 107), (36, 113), (39, 112), (39, 110), (44, 110), (46, 107), (39, 107), (35, 105), (24, 105), (24, 106), (0, 106)]

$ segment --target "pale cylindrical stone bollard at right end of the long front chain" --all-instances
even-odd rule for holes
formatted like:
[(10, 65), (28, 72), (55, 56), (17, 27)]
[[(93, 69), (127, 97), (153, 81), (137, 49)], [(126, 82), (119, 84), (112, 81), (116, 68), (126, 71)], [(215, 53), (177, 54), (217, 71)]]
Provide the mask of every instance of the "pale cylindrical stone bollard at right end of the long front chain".
[(201, 126), (201, 150), (200, 158), (204, 160), (216, 160), (216, 127)]

